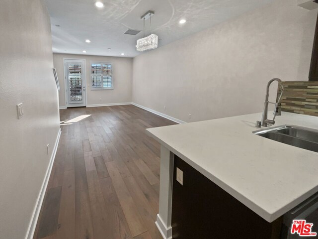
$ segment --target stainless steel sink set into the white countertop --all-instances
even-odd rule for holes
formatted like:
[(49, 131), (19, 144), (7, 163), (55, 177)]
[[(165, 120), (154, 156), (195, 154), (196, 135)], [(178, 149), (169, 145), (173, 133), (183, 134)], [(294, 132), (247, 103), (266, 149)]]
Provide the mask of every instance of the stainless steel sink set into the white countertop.
[(281, 143), (318, 152), (318, 130), (296, 125), (281, 125), (253, 133)]

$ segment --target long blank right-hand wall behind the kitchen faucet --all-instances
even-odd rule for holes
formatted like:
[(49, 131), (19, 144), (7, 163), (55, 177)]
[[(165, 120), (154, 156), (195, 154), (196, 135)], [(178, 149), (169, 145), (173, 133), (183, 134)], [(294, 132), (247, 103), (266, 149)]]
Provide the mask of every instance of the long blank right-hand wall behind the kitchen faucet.
[(297, 3), (276, 0), (135, 57), (133, 102), (184, 121), (261, 112), (270, 79), (308, 80), (317, 10)]

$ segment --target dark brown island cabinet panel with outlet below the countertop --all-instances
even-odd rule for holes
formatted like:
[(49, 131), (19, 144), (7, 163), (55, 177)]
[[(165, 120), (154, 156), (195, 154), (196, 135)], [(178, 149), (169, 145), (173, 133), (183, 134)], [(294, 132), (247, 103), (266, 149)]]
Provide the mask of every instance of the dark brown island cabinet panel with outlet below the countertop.
[(281, 218), (268, 223), (176, 155), (173, 170), (173, 239), (280, 238)]

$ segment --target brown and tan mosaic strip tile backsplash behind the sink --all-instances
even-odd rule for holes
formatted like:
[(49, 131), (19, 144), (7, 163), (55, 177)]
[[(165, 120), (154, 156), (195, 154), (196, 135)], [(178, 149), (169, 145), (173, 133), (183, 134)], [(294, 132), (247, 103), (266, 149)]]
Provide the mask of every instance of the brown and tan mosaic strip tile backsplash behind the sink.
[(318, 81), (285, 81), (283, 85), (282, 111), (318, 116)]

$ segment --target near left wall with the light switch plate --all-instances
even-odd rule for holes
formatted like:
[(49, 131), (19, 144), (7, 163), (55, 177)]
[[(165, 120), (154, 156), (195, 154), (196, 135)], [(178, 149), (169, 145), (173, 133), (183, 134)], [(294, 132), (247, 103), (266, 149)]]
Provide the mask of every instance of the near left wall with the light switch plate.
[(43, 1), (1, 0), (0, 32), (0, 238), (23, 239), (60, 128)]

